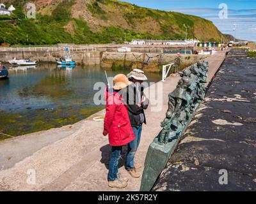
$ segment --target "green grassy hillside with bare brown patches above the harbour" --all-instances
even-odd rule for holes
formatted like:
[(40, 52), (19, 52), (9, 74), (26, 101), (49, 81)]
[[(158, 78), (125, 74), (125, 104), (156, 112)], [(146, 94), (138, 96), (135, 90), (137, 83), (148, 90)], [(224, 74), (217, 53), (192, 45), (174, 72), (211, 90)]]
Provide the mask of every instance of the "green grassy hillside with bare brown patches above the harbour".
[[(61, 3), (60, 3), (61, 1)], [(25, 19), (24, 1), (12, 3), (12, 17), (1, 17), (0, 42), (12, 45), (56, 43), (120, 43), (134, 38), (182, 39), (183, 24), (189, 25), (188, 38), (217, 41), (221, 33), (211, 21), (182, 13), (151, 10), (115, 0), (58, 0), (39, 4), (36, 19)], [(7, 3), (8, 4), (8, 3)], [(8, 5), (7, 5), (8, 6)], [(28, 38), (27, 38), (28, 35)]]

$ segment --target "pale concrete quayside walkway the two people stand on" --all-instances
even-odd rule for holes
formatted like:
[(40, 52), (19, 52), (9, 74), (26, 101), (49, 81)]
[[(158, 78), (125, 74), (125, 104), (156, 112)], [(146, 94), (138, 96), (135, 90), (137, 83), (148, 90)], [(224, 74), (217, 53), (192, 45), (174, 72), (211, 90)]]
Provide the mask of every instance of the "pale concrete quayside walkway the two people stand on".
[[(220, 68), (225, 52), (218, 52), (209, 61), (209, 79)], [(179, 77), (167, 78), (163, 85), (163, 107), (157, 112), (150, 105), (146, 112), (147, 126), (143, 128), (140, 149), (136, 161), (145, 161), (148, 147), (161, 130), (160, 122), (167, 110), (168, 94)], [(156, 87), (150, 87), (157, 91)], [(151, 101), (155, 96), (149, 95)], [(104, 116), (104, 110), (95, 114)], [(95, 116), (93, 115), (93, 116)], [(0, 143), (0, 190), (16, 191), (116, 191), (108, 187), (107, 173), (110, 147), (108, 138), (102, 136), (103, 122), (92, 117), (72, 126), (12, 138)], [(124, 161), (120, 172), (125, 172)], [(142, 173), (143, 168), (140, 169)], [(31, 183), (35, 173), (35, 184)], [(30, 182), (29, 182), (30, 181)], [(33, 181), (33, 180), (32, 180)], [(130, 179), (124, 191), (139, 191), (140, 179)]]

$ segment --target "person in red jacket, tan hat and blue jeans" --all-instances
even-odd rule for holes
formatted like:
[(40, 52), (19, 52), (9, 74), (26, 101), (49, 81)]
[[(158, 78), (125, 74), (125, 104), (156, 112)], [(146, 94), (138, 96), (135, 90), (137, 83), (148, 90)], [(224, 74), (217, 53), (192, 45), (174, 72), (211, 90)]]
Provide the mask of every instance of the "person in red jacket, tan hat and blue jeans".
[(127, 105), (122, 96), (122, 89), (131, 84), (125, 75), (116, 75), (113, 78), (113, 93), (106, 95), (106, 115), (104, 119), (103, 135), (109, 136), (111, 145), (111, 159), (109, 163), (109, 187), (124, 188), (128, 180), (118, 173), (118, 163), (122, 154), (123, 145), (134, 140), (129, 120)]

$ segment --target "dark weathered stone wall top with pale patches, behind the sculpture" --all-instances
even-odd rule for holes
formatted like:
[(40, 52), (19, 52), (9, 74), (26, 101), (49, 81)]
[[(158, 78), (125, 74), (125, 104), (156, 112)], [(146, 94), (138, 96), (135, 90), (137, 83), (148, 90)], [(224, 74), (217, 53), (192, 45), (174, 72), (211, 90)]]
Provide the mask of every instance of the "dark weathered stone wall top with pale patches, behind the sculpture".
[(154, 191), (256, 191), (255, 66), (228, 54)]

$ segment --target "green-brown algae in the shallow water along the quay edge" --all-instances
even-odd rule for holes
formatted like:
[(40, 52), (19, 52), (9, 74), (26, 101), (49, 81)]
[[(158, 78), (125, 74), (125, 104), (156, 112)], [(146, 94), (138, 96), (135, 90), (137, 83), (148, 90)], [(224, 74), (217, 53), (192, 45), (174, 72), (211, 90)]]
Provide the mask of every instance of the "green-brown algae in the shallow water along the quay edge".
[[(26, 135), (51, 128), (60, 128), (86, 119), (104, 106), (87, 108), (59, 107), (55, 110), (29, 110), (20, 113), (0, 112), (0, 133), (11, 136)], [(9, 136), (0, 134), (0, 141)]]

